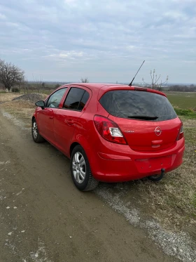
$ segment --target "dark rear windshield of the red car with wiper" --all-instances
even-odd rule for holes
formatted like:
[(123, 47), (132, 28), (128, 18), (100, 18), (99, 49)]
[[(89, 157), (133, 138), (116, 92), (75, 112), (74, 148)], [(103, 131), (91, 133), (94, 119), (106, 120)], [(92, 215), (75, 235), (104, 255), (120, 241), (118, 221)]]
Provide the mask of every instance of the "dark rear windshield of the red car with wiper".
[(109, 91), (102, 96), (99, 103), (115, 117), (148, 121), (164, 121), (177, 117), (165, 96), (148, 91)]

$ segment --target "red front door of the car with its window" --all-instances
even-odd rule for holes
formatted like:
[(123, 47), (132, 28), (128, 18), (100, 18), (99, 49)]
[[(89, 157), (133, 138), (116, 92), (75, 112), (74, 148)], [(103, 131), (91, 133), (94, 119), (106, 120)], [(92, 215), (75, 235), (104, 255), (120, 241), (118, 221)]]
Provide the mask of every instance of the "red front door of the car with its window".
[(54, 116), (58, 110), (59, 104), (64, 96), (66, 88), (58, 89), (46, 101), (45, 108), (38, 112), (38, 128), (41, 136), (50, 143), (55, 143), (54, 136)]

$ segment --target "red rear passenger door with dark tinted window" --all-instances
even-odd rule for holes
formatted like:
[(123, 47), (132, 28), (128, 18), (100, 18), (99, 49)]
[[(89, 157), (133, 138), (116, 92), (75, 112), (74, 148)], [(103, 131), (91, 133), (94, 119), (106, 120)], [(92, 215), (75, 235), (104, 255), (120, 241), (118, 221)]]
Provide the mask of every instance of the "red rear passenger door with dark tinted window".
[(54, 135), (57, 148), (69, 156), (69, 147), (83, 107), (90, 98), (90, 90), (83, 87), (71, 87), (62, 109), (57, 110), (54, 118)]

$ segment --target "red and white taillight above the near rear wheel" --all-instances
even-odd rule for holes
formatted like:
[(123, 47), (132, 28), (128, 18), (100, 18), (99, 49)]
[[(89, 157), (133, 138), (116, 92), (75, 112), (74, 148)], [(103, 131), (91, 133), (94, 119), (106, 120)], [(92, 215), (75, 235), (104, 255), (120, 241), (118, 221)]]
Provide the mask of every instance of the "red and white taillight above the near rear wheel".
[(100, 133), (100, 135), (106, 140), (118, 144), (127, 144), (118, 125), (110, 119), (99, 115), (95, 115), (94, 125), (96, 126), (97, 131)]

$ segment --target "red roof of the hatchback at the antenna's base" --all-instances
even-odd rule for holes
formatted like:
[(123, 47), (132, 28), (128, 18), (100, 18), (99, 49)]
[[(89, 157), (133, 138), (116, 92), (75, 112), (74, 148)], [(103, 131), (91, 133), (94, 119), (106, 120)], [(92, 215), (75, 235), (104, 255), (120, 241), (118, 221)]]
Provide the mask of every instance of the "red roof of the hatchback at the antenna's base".
[[(106, 93), (107, 91), (112, 91), (112, 90), (137, 90), (137, 91), (148, 91), (151, 93), (158, 93), (162, 96), (166, 96), (165, 93), (162, 93), (160, 91), (157, 91), (155, 89), (147, 89), (144, 87), (140, 87), (140, 86), (129, 86), (126, 84), (109, 84), (109, 83), (71, 83), (71, 84), (65, 84), (63, 86), (85, 86), (89, 89), (91, 89), (92, 91), (99, 91), (100, 89), (101, 92), (100, 95), (102, 96), (104, 93)], [(63, 86), (60, 86), (60, 88), (62, 88)]]

